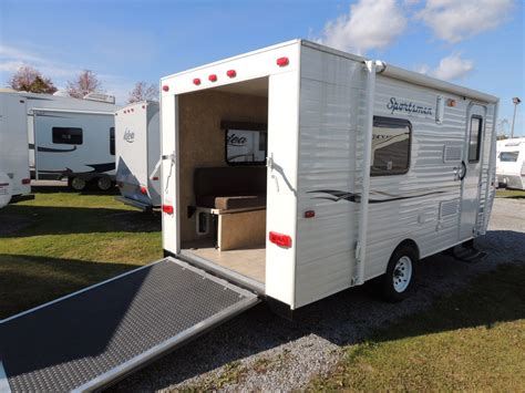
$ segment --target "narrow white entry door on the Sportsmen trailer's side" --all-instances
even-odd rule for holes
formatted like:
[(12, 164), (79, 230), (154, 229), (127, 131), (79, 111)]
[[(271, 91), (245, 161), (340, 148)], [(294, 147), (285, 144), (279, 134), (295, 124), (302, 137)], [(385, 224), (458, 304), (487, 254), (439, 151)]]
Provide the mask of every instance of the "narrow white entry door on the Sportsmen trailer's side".
[(467, 111), (466, 139), (463, 149), (462, 200), (460, 240), (474, 235), (481, 192), (481, 168), (483, 162), (483, 139), (485, 136), (485, 107), (471, 105)]

